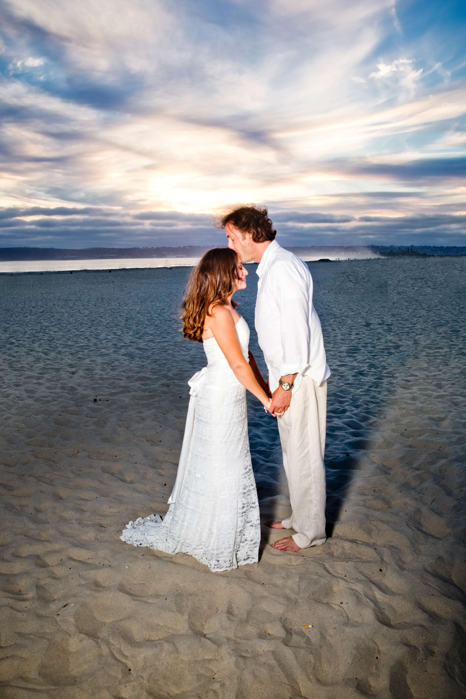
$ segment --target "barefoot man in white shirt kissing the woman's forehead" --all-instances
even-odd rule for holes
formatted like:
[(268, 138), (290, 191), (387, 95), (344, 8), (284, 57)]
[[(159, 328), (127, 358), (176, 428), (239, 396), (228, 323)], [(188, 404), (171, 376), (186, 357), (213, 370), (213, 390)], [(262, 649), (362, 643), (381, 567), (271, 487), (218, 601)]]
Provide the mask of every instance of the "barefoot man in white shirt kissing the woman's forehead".
[(242, 262), (259, 262), (255, 324), (291, 502), (291, 517), (268, 526), (294, 529), (272, 546), (299, 551), (326, 541), (323, 450), (330, 370), (312, 305), (312, 277), (302, 260), (279, 246), (265, 207), (237, 208), (222, 218), (221, 227)]

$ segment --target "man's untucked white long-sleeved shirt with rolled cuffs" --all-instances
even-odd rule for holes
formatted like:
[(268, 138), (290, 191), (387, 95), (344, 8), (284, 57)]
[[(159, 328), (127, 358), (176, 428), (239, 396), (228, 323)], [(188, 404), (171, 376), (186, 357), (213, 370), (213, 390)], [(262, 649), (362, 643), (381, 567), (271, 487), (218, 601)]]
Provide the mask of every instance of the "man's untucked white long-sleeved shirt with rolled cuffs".
[(312, 277), (307, 265), (276, 240), (265, 249), (256, 270), (259, 276), (255, 325), (269, 372), (270, 391), (279, 378), (311, 376), (318, 385), (328, 379), (321, 322), (312, 304)]

